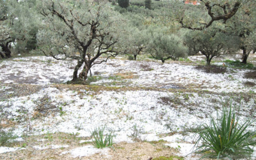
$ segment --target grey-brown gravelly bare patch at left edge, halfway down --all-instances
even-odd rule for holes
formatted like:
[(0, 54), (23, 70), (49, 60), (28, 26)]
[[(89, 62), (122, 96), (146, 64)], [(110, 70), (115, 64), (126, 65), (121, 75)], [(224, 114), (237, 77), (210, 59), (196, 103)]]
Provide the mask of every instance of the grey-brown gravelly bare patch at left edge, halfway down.
[(8, 84), (2, 85), (1, 87), (8, 87), (8, 89), (0, 90), (0, 101), (12, 97), (27, 96), (36, 93), (43, 88), (43, 86), (31, 84)]

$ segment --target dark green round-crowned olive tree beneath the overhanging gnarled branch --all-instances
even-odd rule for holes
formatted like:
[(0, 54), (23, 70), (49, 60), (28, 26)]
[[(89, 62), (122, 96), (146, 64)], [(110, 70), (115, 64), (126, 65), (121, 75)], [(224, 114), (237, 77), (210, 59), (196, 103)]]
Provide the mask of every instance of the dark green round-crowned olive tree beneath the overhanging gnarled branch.
[(206, 65), (210, 65), (213, 57), (236, 51), (239, 37), (226, 35), (216, 29), (189, 31), (184, 36), (189, 48), (189, 55), (201, 53), (206, 57)]

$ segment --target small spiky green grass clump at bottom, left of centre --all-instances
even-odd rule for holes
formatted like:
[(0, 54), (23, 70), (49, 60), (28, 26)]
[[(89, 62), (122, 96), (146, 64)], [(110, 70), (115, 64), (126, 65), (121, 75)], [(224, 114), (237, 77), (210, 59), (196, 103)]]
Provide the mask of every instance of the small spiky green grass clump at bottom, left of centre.
[(105, 126), (94, 128), (94, 131), (91, 132), (91, 135), (93, 137), (93, 140), (92, 140), (93, 145), (96, 148), (110, 147), (113, 145), (114, 131), (109, 131), (104, 136), (104, 130), (105, 130)]

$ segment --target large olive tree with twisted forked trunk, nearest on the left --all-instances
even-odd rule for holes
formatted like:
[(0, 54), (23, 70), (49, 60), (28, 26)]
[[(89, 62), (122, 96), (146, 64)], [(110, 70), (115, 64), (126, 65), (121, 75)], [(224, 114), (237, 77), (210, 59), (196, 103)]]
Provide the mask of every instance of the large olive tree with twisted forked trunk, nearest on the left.
[(77, 60), (72, 81), (85, 81), (92, 66), (125, 52), (121, 42), (124, 21), (109, 4), (51, 0), (40, 7), (45, 23), (37, 35), (40, 50), (58, 60)]

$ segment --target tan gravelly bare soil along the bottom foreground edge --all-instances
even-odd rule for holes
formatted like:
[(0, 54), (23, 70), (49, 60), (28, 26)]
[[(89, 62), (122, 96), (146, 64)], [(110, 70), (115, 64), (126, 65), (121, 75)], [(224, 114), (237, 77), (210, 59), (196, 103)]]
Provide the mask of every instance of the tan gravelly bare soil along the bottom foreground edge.
[[(121, 142), (114, 144), (109, 148), (108, 155), (94, 154), (89, 157), (73, 158), (69, 153), (61, 154), (64, 151), (70, 151), (74, 148), (82, 147), (92, 144), (80, 144), (81, 138), (73, 134), (54, 133), (45, 134), (41, 136), (31, 136), (24, 138), (23, 142), (14, 142), (12, 147), (24, 147), (24, 150), (17, 150), (15, 152), (7, 152), (0, 154), (2, 159), (33, 159), (33, 160), (148, 160), (156, 157), (164, 156), (171, 157), (177, 153), (177, 150), (165, 146), (164, 142), (156, 141), (150, 142), (136, 142), (127, 143)], [(51, 145), (69, 145), (69, 147), (58, 149), (35, 149), (33, 146), (47, 147)], [(177, 156), (175, 156), (177, 157)]]

